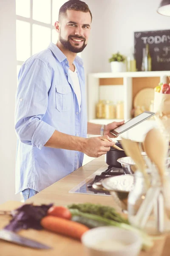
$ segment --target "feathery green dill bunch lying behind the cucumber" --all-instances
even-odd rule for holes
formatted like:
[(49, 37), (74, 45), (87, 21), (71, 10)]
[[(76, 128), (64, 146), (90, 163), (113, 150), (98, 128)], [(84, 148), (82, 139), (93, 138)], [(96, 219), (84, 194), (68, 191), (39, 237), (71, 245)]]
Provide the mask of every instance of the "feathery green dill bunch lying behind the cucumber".
[(113, 207), (104, 206), (101, 204), (71, 204), (69, 209), (78, 209), (80, 212), (92, 213), (109, 220), (117, 221), (120, 223), (129, 224), (128, 220), (123, 218)]

